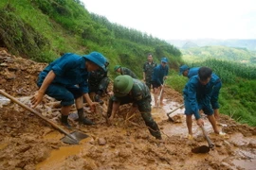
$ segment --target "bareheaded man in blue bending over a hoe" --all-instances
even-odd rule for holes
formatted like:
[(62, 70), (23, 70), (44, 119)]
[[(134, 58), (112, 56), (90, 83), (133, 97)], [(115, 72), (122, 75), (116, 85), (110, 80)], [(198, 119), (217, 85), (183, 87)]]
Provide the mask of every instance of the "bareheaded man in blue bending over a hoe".
[(218, 76), (212, 76), (212, 71), (208, 67), (201, 67), (198, 75), (192, 76), (186, 84), (184, 94), (186, 122), (189, 130), (189, 138), (192, 138), (192, 114), (199, 127), (204, 126), (204, 121), (199, 114), (203, 110), (208, 115), (211, 126), (215, 133), (220, 134), (216, 125), (216, 120), (212, 116), (213, 110), (210, 106), (210, 96), (215, 84), (220, 81)]

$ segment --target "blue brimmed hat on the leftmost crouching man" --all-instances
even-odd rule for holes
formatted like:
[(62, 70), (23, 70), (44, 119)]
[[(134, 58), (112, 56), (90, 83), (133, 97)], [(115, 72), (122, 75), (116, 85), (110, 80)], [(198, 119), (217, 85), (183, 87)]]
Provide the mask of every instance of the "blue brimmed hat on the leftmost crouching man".
[(106, 70), (105, 63), (106, 63), (107, 59), (101, 53), (94, 51), (94, 52), (91, 52), (90, 54), (84, 55), (82, 57), (96, 63), (104, 71)]

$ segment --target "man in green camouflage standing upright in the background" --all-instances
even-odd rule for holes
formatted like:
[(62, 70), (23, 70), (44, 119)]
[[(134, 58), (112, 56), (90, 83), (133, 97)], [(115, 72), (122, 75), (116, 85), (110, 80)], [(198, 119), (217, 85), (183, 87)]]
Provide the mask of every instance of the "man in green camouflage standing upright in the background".
[(149, 54), (148, 61), (143, 64), (143, 81), (149, 89), (151, 89), (152, 76), (156, 65), (157, 64), (153, 61), (152, 54)]

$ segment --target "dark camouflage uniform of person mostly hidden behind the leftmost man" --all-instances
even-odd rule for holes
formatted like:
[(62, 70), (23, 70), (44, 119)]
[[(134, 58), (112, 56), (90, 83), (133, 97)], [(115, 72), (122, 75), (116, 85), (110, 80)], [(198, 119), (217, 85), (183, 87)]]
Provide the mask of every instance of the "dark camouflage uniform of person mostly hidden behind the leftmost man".
[(89, 93), (98, 93), (102, 94), (106, 92), (109, 78), (107, 77), (107, 71), (103, 71), (102, 69), (98, 69), (97, 71), (90, 72), (88, 78), (89, 84)]

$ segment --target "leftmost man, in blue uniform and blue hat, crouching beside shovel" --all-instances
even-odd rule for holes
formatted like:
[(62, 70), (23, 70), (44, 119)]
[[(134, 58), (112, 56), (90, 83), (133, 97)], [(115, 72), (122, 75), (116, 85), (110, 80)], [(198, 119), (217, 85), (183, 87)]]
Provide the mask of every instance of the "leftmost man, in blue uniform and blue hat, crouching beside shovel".
[(105, 62), (104, 56), (98, 52), (92, 52), (82, 57), (66, 53), (61, 58), (54, 60), (39, 75), (37, 85), (40, 89), (31, 98), (33, 108), (47, 94), (61, 101), (62, 124), (65, 127), (70, 127), (67, 117), (74, 103), (78, 110), (79, 122), (84, 125), (93, 125), (94, 123), (83, 115), (83, 97), (91, 110), (95, 110), (97, 103), (92, 102), (88, 95), (88, 74), (90, 71), (98, 69), (105, 70)]

